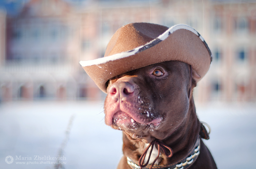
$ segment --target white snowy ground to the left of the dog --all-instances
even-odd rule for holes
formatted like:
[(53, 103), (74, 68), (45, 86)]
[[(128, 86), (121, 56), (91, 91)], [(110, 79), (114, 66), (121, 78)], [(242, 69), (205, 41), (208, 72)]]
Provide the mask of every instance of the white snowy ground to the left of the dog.
[[(15, 156), (58, 157), (72, 115), (75, 117), (64, 149), (64, 167), (115, 168), (122, 157), (122, 132), (105, 125), (102, 106), (103, 102), (84, 101), (0, 104), (0, 168), (53, 169), (53, 164), (15, 164), (29, 161), (16, 160)], [(12, 164), (5, 163), (9, 155), (14, 158)]]

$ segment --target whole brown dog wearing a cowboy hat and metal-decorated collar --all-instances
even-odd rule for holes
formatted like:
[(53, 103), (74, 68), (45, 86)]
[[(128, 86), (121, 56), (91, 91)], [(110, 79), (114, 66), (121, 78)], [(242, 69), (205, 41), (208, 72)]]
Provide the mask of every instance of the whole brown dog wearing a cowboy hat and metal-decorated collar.
[(123, 131), (117, 168), (217, 168), (201, 138), (192, 96), (212, 54), (186, 25), (133, 23), (112, 36), (104, 58), (80, 61), (108, 95), (105, 123)]

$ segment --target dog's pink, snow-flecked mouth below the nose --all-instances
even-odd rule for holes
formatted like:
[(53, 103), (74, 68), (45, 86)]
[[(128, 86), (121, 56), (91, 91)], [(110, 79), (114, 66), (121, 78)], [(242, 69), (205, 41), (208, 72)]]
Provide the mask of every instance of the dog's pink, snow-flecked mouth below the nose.
[[(148, 114), (147, 114), (148, 115)], [(128, 114), (121, 110), (117, 111), (112, 118), (112, 124), (119, 128), (131, 128), (137, 125), (148, 125), (152, 124), (158, 126), (162, 121), (161, 118), (143, 118), (142, 116), (135, 114)]]

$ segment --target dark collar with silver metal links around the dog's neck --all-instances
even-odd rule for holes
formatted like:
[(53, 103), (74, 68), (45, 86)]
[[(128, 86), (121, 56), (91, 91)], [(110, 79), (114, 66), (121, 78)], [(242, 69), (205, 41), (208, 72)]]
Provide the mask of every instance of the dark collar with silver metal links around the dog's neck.
[[(200, 153), (200, 137), (198, 136), (195, 145), (184, 158), (170, 165), (153, 166), (152, 169), (186, 169), (196, 161), (199, 153)], [(133, 161), (129, 157), (127, 157), (127, 163), (128, 165), (131, 166), (132, 169), (141, 168), (139, 166), (139, 163)], [(147, 165), (141, 169), (149, 169), (149, 168), (150, 168), (150, 165)]]

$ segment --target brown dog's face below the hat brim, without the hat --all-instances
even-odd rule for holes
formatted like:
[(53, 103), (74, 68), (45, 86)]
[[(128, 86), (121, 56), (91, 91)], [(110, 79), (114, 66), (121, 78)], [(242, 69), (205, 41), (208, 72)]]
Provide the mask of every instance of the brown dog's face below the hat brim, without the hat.
[(146, 142), (164, 139), (188, 113), (191, 78), (188, 64), (167, 61), (110, 79), (105, 123)]

